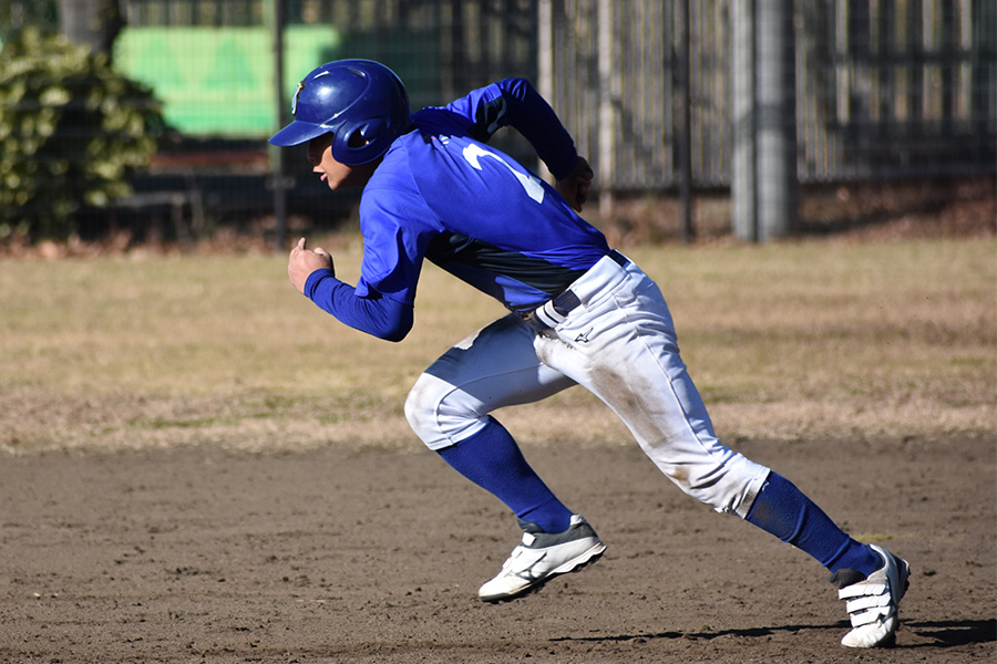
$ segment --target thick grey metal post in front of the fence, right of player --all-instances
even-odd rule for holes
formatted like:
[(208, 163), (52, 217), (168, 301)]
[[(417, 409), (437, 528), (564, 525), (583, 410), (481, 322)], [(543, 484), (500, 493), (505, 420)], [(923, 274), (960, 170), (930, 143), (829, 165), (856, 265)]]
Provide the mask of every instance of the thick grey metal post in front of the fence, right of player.
[(731, 3), (734, 40), (734, 232), (768, 241), (796, 222), (792, 0)]

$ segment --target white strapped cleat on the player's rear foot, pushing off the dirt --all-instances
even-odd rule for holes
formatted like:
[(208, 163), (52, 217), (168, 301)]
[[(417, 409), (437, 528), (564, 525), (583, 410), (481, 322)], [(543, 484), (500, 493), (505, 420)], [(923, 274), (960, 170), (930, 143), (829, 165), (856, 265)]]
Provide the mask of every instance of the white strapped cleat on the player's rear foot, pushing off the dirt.
[(841, 640), (846, 647), (890, 646), (896, 642), (897, 605), (907, 591), (911, 568), (881, 547), (870, 548), (883, 559), (883, 567), (865, 579), (854, 570), (839, 570), (831, 578), (839, 587), (837, 598), (847, 600), (852, 631)]

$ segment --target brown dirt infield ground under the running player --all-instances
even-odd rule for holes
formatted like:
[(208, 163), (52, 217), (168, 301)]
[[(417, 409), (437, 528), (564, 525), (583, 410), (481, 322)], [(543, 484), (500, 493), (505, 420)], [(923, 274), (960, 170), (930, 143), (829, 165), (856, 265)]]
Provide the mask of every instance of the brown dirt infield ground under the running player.
[(635, 445), (524, 446), (609, 546), (475, 599), (514, 520), (418, 443), (206, 447), (0, 464), (0, 661), (993, 662), (991, 436), (738, 449), (912, 566), (897, 647), (851, 651), (824, 570), (695, 504)]

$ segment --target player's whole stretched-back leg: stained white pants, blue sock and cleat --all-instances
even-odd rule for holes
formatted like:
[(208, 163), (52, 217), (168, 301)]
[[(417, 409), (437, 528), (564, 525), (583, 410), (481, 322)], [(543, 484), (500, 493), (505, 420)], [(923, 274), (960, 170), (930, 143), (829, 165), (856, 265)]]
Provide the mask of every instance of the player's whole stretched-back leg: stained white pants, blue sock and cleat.
[[(859, 630), (867, 634), (853, 639), (857, 644), (875, 645), (891, 636), (906, 563), (852, 539), (791, 483), (722, 445), (681, 360), (657, 286), (633, 263), (604, 261), (599, 267), (572, 287), (584, 305), (537, 338), (538, 356), (606, 402), (685, 492), (794, 544), (826, 566), (839, 584), (892, 574), (885, 590), (877, 582), (865, 589), (878, 596), (865, 593), (850, 606), (856, 627), (873, 621)], [(842, 596), (853, 591), (842, 590)], [(870, 614), (864, 602), (888, 605)], [(856, 618), (853, 608), (863, 615)], [(891, 611), (892, 618), (884, 615)]]

